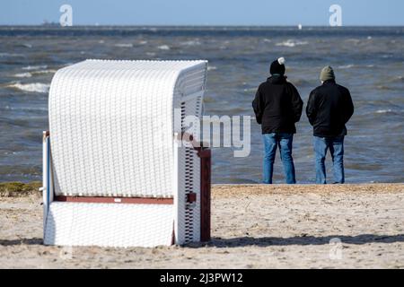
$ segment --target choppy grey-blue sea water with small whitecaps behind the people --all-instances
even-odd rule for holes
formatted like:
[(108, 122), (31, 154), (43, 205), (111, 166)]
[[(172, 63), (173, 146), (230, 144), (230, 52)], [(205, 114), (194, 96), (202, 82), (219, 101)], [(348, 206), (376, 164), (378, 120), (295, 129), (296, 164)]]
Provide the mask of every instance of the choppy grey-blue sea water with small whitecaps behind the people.
[[(87, 58), (207, 59), (205, 114), (253, 116), (251, 100), (277, 57), (286, 58), (288, 80), (305, 103), (324, 65), (350, 89), (356, 112), (347, 125), (347, 182), (404, 182), (403, 27), (0, 27), (0, 181), (40, 180), (48, 88), (63, 66)], [(215, 148), (213, 156), (214, 183), (259, 182), (259, 126), (251, 121), (248, 158), (234, 158), (230, 148)], [(312, 183), (305, 115), (294, 161), (298, 181)], [(277, 155), (274, 179), (283, 178)]]

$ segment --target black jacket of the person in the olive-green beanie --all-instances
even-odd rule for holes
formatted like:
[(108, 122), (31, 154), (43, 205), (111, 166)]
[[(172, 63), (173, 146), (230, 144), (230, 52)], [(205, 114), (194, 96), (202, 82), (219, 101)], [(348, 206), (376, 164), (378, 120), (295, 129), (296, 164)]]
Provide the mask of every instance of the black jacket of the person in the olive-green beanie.
[(310, 94), (306, 114), (315, 136), (347, 135), (345, 125), (354, 114), (351, 94), (335, 81), (327, 81)]

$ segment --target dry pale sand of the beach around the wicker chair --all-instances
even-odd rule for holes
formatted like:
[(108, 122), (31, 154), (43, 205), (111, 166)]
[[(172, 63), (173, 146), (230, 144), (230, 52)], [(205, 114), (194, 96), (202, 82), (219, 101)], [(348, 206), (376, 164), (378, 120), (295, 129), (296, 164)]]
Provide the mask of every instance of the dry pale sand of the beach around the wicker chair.
[(0, 267), (404, 268), (403, 184), (215, 186), (212, 242), (188, 247), (45, 247), (40, 203), (0, 197)]

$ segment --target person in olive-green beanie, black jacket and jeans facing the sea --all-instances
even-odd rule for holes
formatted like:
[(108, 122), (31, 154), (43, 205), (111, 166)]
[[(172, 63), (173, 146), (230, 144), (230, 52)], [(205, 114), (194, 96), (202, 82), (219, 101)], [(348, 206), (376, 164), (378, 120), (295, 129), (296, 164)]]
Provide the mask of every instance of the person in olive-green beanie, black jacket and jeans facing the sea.
[(345, 183), (344, 137), (346, 124), (354, 114), (354, 104), (347, 88), (335, 82), (330, 66), (322, 69), (322, 85), (310, 94), (306, 114), (314, 129), (314, 153), (316, 161), (316, 183), (326, 184), (325, 158), (331, 153), (335, 183)]

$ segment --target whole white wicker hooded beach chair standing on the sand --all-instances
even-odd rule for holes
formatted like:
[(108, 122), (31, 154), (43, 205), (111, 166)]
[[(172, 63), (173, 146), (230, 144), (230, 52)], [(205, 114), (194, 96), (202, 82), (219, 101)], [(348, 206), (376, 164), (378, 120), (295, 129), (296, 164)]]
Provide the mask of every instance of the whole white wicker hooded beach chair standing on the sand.
[(206, 66), (86, 60), (57, 71), (43, 143), (45, 245), (210, 239), (210, 150), (179, 140), (184, 118), (201, 116)]

